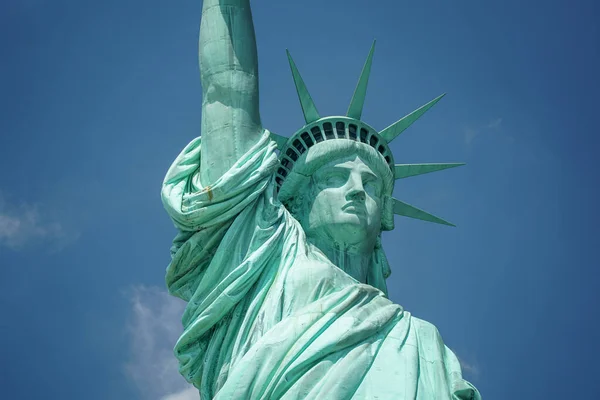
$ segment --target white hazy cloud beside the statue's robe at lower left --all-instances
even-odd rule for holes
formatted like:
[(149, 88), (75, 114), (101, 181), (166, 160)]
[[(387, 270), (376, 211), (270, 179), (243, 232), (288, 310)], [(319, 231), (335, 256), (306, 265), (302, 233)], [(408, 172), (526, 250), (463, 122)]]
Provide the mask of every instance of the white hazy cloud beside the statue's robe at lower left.
[(131, 304), (128, 326), (131, 356), (125, 371), (144, 399), (198, 400), (177, 369), (173, 346), (181, 334), (185, 303), (157, 287), (127, 291)]

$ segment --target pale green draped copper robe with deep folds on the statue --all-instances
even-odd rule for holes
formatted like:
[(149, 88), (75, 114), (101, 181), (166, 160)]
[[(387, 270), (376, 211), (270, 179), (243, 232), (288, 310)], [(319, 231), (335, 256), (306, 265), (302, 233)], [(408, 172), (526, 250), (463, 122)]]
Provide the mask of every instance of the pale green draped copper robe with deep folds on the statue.
[(162, 199), (180, 231), (167, 286), (188, 302), (175, 354), (202, 399), (480, 399), (432, 324), (307, 243), (267, 131), (210, 187), (200, 165), (197, 138)]

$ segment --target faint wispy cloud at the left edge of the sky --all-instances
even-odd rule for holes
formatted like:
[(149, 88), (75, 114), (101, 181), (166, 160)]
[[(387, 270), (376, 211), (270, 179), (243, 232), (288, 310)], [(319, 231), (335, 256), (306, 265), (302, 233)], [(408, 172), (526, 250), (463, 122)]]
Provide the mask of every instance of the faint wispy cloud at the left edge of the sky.
[(57, 251), (79, 237), (37, 204), (10, 204), (0, 193), (0, 246), (19, 250), (33, 243), (45, 242)]

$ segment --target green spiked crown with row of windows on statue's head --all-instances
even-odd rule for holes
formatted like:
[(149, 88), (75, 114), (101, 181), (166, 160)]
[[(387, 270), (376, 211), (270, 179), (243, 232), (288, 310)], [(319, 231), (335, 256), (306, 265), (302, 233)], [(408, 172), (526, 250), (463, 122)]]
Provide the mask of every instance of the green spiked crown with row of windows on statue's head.
[[(280, 150), (280, 165), (275, 176), (275, 187), (280, 197), (284, 195), (283, 192), (286, 192), (285, 190), (282, 190), (282, 187), (285, 186), (286, 180), (289, 180), (290, 175), (294, 171), (294, 166), (299, 160), (306, 157), (305, 153), (308, 153), (309, 149), (318, 147), (320, 143), (327, 141), (344, 139), (346, 141), (354, 142), (357, 147), (370, 147), (378, 154), (378, 157), (380, 156), (379, 159), (382, 161), (385, 160), (384, 162), (391, 171), (391, 175), (394, 179), (403, 179), (464, 165), (464, 163), (394, 164), (394, 157), (388, 143), (412, 125), (413, 122), (440, 101), (444, 95), (442, 94), (441, 96), (436, 97), (384, 130), (380, 132), (376, 131), (360, 120), (367, 92), (374, 50), (375, 42), (373, 42), (371, 50), (369, 51), (369, 55), (362, 69), (346, 116), (328, 116), (323, 118), (319, 115), (294, 60), (289, 51), (287, 52), (306, 125), (294, 133), (290, 138), (271, 133), (273, 140), (277, 143)], [(358, 145), (358, 143), (362, 145)], [(370, 153), (373, 153), (373, 151), (370, 150)], [(393, 186), (391, 189), (393, 189)], [(455, 226), (448, 221), (398, 199), (390, 199), (391, 204), (389, 204), (389, 208), (394, 214), (438, 224)], [(389, 229), (391, 229), (391, 227)]]

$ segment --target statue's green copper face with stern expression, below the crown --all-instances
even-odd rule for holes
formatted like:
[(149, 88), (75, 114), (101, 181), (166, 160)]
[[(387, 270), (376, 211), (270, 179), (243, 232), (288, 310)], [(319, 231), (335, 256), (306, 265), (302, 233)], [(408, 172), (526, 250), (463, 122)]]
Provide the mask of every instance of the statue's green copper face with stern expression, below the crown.
[(372, 250), (381, 231), (383, 182), (358, 156), (334, 160), (313, 174), (315, 197), (305, 219), (307, 235), (338, 246)]

